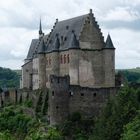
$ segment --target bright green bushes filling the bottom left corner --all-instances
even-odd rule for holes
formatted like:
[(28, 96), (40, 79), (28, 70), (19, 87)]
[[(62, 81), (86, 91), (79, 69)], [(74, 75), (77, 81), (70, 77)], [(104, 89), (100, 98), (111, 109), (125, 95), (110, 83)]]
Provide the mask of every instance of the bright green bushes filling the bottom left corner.
[(24, 114), (24, 106), (8, 106), (0, 112), (0, 138), (3, 140), (44, 140), (45, 127), (40, 120)]

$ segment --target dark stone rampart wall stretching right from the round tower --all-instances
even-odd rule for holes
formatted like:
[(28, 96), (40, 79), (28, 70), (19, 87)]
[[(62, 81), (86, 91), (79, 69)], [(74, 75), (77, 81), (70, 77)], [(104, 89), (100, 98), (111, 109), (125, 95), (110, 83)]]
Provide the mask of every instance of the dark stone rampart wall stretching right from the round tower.
[(115, 96), (117, 88), (86, 88), (70, 86), (69, 112), (80, 112), (85, 118), (97, 116), (110, 96)]

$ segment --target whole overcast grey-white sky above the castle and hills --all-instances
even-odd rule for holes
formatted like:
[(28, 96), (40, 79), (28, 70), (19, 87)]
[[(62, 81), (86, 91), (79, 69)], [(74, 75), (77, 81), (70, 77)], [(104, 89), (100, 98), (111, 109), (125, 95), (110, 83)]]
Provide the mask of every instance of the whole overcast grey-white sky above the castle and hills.
[(116, 68), (140, 67), (140, 0), (0, 0), (0, 66), (20, 69), (39, 18), (47, 34), (59, 21), (93, 13), (116, 48)]

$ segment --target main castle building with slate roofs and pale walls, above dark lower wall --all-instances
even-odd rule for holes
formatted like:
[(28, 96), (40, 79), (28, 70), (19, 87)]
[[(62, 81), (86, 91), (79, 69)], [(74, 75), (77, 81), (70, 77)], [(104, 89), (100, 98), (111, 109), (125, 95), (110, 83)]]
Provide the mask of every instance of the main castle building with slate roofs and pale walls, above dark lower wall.
[[(114, 87), (114, 50), (109, 35), (104, 42), (92, 11), (73, 19), (57, 20), (49, 35), (44, 35), (40, 24), (39, 39), (32, 41), (27, 63), (23, 65), (23, 88), (49, 87), (51, 74), (69, 75), (71, 85)], [(32, 71), (32, 77), (25, 69)], [(29, 79), (32, 81), (28, 82)]]

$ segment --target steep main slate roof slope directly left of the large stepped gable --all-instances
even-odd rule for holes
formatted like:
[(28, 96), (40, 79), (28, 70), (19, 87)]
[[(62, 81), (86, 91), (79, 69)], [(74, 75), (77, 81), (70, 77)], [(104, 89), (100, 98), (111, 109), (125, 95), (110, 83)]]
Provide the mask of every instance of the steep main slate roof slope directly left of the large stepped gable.
[[(46, 52), (56, 50), (53, 43), (57, 37), (61, 44), (59, 50), (66, 50), (72, 47), (78, 48), (79, 46), (77, 46), (78, 45), (77, 42), (79, 39), (79, 35), (87, 17), (88, 15), (83, 15), (56, 23), (53, 31), (50, 34), (50, 37), (48, 38), (46, 44)], [(73, 36), (74, 36), (74, 44), (73, 44)]]

